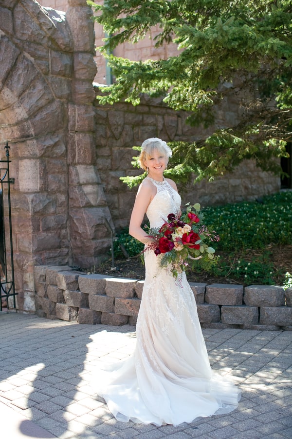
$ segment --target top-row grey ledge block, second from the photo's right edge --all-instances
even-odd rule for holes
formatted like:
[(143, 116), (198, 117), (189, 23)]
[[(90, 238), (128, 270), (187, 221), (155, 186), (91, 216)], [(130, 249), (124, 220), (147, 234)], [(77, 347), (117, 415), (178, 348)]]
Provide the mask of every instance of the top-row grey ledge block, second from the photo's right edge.
[(274, 285), (250, 285), (244, 289), (243, 300), (248, 306), (283, 306), (284, 288)]

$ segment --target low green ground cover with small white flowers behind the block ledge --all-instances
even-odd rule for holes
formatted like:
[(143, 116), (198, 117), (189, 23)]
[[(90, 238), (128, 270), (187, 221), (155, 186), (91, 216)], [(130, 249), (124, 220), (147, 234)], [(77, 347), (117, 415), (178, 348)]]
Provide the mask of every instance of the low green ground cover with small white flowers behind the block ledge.
[[(202, 209), (204, 223), (220, 236), (213, 247), (218, 264), (206, 272), (189, 271), (189, 281), (243, 285), (292, 285), (292, 191), (281, 191), (256, 201), (242, 201)], [(114, 241), (114, 265), (98, 272), (144, 279), (143, 244), (121, 230)]]

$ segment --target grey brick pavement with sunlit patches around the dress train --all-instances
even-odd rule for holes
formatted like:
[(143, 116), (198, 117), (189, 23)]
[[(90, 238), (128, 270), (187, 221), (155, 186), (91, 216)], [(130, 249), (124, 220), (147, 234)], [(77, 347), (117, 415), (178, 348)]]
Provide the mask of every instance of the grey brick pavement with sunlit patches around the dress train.
[(178, 427), (123, 423), (94, 394), (100, 361), (127, 357), (135, 327), (0, 312), (0, 437), (292, 438), (292, 332), (203, 329), (212, 368), (240, 386), (228, 415)]

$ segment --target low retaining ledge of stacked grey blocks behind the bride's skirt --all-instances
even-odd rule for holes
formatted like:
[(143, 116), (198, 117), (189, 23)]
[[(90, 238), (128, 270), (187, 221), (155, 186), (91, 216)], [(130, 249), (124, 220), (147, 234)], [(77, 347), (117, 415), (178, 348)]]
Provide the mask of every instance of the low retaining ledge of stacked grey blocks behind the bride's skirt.
[[(34, 267), (36, 313), (87, 324), (135, 325), (143, 280)], [(292, 288), (190, 283), (202, 327), (292, 329)]]

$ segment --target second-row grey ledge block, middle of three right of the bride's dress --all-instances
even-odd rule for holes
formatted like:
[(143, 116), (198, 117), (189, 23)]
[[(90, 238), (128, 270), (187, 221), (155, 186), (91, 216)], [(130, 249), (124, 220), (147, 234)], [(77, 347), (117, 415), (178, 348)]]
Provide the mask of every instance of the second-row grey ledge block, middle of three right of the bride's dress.
[(234, 325), (256, 325), (258, 323), (257, 306), (227, 306), (221, 307), (221, 322)]

